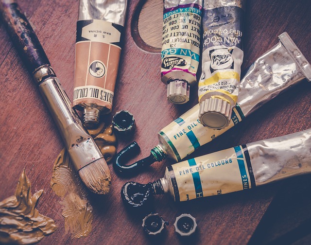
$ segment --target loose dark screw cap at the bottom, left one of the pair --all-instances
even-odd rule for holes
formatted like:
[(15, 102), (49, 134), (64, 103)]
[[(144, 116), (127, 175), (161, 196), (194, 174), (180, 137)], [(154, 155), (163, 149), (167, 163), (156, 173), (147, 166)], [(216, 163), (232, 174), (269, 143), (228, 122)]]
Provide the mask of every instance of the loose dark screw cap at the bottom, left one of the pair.
[(160, 234), (164, 225), (169, 225), (158, 213), (150, 213), (142, 220), (142, 227), (148, 235)]

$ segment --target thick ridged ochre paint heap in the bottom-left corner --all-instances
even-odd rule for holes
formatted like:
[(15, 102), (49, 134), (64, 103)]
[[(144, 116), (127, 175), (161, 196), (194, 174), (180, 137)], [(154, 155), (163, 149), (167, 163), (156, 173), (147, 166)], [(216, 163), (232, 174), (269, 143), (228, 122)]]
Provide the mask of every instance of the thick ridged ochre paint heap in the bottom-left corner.
[(24, 169), (15, 195), (0, 202), (0, 244), (34, 244), (56, 230), (54, 221), (35, 209), (42, 192), (32, 196)]

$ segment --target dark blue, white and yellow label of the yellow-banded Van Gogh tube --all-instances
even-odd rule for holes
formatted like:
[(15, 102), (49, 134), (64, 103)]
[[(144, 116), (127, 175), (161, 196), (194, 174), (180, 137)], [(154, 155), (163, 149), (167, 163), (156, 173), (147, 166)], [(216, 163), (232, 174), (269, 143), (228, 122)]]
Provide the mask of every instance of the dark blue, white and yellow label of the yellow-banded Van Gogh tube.
[(237, 102), (243, 60), (242, 18), (243, 10), (236, 6), (205, 9), (199, 101), (218, 91), (231, 105)]

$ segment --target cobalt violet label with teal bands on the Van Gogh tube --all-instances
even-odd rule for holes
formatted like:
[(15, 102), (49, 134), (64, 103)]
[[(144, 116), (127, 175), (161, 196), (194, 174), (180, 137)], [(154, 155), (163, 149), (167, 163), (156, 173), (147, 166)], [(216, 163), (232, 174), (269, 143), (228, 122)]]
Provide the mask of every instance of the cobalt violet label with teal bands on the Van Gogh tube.
[[(161, 52), (161, 77), (183, 79), (180, 72), (189, 73), (185, 80), (196, 81), (200, 58), (200, 28), (202, 6), (194, 3), (164, 9)], [(171, 71), (177, 71), (174, 76)]]

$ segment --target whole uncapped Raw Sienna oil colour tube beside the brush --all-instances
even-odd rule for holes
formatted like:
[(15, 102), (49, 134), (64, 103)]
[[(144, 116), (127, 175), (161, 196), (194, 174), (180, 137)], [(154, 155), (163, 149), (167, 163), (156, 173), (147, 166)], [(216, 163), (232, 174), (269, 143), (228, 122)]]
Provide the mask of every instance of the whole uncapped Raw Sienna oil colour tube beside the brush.
[(111, 112), (127, 0), (80, 0), (73, 105), (88, 128)]

